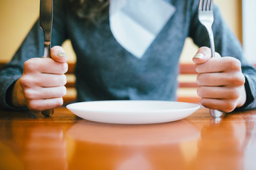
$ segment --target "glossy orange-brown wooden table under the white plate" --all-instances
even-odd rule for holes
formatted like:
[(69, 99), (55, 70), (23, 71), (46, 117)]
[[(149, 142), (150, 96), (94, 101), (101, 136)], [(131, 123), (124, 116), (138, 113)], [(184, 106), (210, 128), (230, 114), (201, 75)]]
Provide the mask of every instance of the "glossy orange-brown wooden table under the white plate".
[(201, 108), (156, 125), (0, 111), (0, 169), (256, 169), (256, 111), (214, 120)]

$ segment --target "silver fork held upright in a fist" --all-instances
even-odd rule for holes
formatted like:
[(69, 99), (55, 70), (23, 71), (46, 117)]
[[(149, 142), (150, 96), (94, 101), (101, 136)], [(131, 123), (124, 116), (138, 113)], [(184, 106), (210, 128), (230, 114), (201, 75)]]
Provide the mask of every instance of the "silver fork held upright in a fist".
[[(198, 6), (198, 19), (201, 22), (203, 26), (206, 27), (206, 30), (208, 32), (209, 38), (210, 38), (210, 51), (212, 57), (215, 57), (215, 45), (214, 45), (214, 39), (213, 39), (213, 0), (199, 0), (199, 6)], [(210, 115), (212, 115), (215, 118), (219, 118), (221, 115), (223, 115), (222, 112), (210, 109)]]

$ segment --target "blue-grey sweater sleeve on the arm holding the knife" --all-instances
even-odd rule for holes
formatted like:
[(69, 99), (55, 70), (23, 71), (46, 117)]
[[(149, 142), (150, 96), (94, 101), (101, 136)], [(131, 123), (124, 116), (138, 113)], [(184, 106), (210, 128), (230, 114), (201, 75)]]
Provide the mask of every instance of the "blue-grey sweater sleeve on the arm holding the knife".
[[(51, 46), (62, 45), (67, 39), (65, 31), (65, 11), (61, 1), (54, 1), (53, 8), (53, 31)], [(11, 110), (26, 110), (27, 108), (14, 108), (8, 102), (11, 95), (12, 85), (23, 74), (23, 63), (33, 57), (43, 56), (43, 31), (39, 21), (33, 25), (26, 38), (16, 51), (11, 61), (0, 72), (0, 108)]]

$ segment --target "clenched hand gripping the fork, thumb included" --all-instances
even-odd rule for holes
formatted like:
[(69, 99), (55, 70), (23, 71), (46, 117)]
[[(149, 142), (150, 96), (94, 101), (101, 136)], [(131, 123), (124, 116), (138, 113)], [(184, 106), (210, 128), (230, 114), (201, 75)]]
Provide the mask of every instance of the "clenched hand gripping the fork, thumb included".
[(193, 57), (198, 76), (197, 93), (206, 108), (229, 113), (245, 104), (245, 77), (234, 57), (211, 57), (210, 48), (199, 48)]

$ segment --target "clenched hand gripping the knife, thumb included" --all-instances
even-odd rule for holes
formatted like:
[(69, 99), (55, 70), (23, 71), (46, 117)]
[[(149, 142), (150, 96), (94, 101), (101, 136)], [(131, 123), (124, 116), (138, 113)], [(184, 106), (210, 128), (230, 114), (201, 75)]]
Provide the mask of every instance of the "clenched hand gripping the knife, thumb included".
[(14, 85), (14, 106), (28, 106), (31, 111), (38, 112), (63, 105), (68, 57), (60, 46), (50, 50), (50, 57), (24, 62), (23, 75)]

